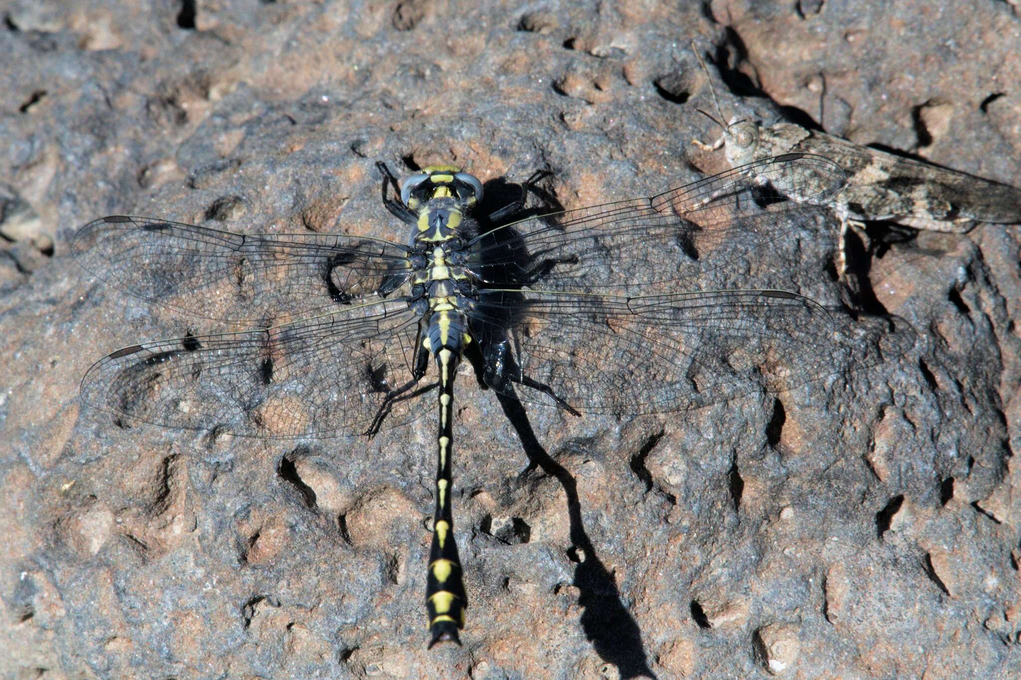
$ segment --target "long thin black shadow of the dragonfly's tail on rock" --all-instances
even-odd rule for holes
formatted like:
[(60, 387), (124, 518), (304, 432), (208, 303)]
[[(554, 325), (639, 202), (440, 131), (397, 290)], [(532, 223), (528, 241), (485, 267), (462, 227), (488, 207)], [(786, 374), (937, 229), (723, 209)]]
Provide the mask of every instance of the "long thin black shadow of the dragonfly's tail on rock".
[(617, 667), (622, 678), (655, 678), (645, 659), (638, 624), (621, 601), (613, 575), (599, 560), (595, 546), (585, 531), (581, 501), (578, 499), (578, 483), (539, 443), (521, 401), (517, 397), (499, 393), (496, 398), (518, 433), (528, 456), (529, 467), (525, 474), (538, 468), (556, 478), (567, 494), (571, 542), (585, 555), (575, 567), (573, 583), (581, 592), (578, 603), (583, 609), (581, 626), (585, 636), (592, 642), (600, 659)]

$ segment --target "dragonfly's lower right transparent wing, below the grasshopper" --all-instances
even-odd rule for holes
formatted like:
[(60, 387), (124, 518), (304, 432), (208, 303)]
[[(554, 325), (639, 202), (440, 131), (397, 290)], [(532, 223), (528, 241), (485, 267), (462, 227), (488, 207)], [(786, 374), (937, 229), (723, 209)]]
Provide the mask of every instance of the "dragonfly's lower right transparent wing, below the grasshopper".
[(783, 291), (642, 297), (502, 291), (485, 296), (481, 334), (503, 341), (505, 380), (491, 386), (555, 405), (535, 381), (588, 412), (653, 414), (783, 391), (830, 357), (833, 322)]

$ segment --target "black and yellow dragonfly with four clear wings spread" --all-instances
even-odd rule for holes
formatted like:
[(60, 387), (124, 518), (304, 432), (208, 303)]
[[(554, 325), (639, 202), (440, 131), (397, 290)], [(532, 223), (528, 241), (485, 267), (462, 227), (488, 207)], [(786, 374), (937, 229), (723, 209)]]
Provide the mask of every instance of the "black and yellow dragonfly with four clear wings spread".
[(529, 183), (476, 214), (484, 188), (460, 167), (398, 183), (377, 165), (405, 243), (126, 215), (81, 228), (71, 250), (97, 278), (233, 329), (117, 349), (87, 372), (81, 398), (115, 419), (271, 439), (371, 437), (436, 407), (429, 647), (460, 644), (468, 608), (452, 508), (461, 361), (500, 395), (618, 417), (782, 391), (827, 368), (823, 306), (704, 285), (821, 215), (845, 181), (824, 157), (788, 153), (524, 217)]

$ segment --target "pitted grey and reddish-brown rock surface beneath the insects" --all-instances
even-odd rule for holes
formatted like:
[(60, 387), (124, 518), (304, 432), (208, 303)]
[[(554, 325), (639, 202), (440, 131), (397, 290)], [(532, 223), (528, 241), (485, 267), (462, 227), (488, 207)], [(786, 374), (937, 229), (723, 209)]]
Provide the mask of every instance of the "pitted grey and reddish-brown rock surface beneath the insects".
[(787, 393), (626, 420), (529, 408), (529, 430), (463, 377), (469, 627), (432, 651), (434, 416), (372, 441), (119, 429), (80, 408), (88, 367), (201, 329), (67, 254), (111, 213), (403, 241), (377, 159), (484, 182), (549, 168), (565, 207), (721, 172), (690, 143), (718, 134), (695, 111), (712, 100), (692, 39), (725, 108), (787, 107), (1016, 184), (1014, 5), (14, 0), (0, 15), (3, 677), (1021, 675), (1016, 227), (854, 232), (854, 295), (830, 276), (833, 224), (761, 248), (772, 285), (918, 336)]

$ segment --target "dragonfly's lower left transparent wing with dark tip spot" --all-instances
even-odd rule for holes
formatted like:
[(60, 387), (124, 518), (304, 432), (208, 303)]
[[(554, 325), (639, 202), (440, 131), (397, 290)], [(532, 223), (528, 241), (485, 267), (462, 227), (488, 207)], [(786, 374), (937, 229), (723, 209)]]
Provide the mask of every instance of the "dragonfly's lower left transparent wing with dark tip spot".
[[(419, 317), (374, 303), (269, 329), (145, 342), (100, 359), (82, 399), (132, 421), (247, 437), (362, 434), (411, 379)], [(388, 426), (419, 416), (405, 399)]]

